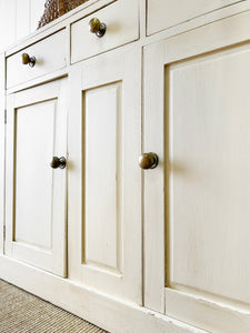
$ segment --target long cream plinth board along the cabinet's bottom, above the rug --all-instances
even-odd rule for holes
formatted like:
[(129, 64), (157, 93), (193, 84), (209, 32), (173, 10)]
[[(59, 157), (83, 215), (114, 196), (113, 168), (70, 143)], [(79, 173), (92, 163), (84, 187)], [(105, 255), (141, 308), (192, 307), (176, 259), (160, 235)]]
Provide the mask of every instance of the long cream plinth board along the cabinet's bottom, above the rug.
[(92, 287), (79, 285), (3, 255), (0, 255), (0, 268), (2, 279), (76, 313), (108, 332), (206, 333), (181, 321), (104, 295)]

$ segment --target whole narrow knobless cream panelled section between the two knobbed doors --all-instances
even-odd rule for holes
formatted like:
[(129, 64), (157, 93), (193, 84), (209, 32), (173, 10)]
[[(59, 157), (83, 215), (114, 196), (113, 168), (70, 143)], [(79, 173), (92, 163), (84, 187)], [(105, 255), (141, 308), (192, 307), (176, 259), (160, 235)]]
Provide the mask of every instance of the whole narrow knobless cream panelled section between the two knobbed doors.
[(140, 50), (71, 69), (69, 275), (141, 302)]

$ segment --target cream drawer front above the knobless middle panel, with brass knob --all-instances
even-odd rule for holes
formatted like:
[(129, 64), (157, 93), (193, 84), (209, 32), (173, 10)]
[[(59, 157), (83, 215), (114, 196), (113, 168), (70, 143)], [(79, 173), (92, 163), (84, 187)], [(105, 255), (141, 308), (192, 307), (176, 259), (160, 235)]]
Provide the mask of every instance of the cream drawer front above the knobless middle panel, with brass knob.
[[(98, 37), (89, 30), (89, 22), (97, 18), (107, 27)], [(139, 38), (138, 1), (118, 0), (71, 26), (71, 63), (102, 53)]]

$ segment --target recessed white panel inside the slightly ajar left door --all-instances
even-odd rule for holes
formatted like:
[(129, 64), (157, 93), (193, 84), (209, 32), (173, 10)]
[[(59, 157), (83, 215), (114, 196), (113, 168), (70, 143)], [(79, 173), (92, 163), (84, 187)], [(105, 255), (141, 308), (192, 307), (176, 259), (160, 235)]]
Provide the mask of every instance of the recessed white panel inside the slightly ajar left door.
[(16, 110), (14, 241), (48, 251), (53, 228), (53, 172), (48, 163), (53, 154), (56, 105), (53, 100)]

